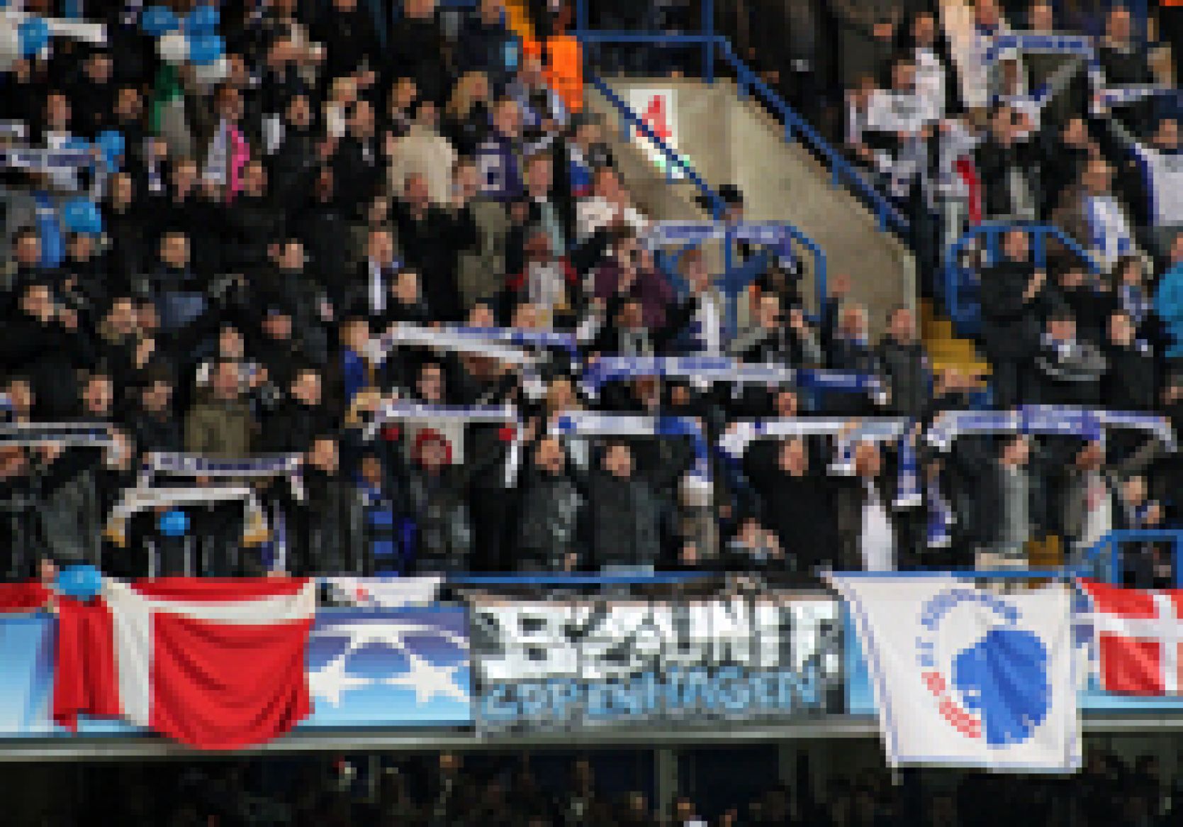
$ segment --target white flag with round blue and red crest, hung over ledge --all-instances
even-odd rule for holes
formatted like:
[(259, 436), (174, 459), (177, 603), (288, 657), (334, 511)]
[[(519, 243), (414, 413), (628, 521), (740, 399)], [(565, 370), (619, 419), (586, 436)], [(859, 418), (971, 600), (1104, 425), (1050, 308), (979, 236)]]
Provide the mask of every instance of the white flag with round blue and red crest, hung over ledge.
[(888, 763), (1080, 767), (1071, 592), (952, 575), (832, 575), (867, 659)]

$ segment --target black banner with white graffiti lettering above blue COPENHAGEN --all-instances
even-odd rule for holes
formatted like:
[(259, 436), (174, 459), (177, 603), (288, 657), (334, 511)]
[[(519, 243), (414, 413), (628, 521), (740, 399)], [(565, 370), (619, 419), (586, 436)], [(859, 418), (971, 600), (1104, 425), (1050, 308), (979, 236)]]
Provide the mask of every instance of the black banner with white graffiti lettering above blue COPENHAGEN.
[(474, 600), (485, 732), (786, 721), (842, 711), (827, 596)]

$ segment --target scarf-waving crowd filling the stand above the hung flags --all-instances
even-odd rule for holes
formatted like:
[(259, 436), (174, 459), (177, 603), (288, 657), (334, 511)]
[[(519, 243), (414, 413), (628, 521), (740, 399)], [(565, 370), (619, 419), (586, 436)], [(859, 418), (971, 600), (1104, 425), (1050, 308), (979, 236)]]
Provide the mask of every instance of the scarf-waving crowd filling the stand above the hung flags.
[[(827, 564), (969, 566), (971, 550), (1015, 564), (1047, 537), (1079, 555), (1113, 529), (1179, 525), (1183, 467), (1149, 437), (976, 435), (948, 453), (920, 437), (944, 412), (990, 403), (1183, 421), (1183, 241), (1170, 240), (1170, 192), (1148, 212), (1155, 180), (1125, 172), (1126, 147), (1175, 153), (1177, 122), (1155, 99), (1094, 111), (1069, 72), (1052, 103), (1032, 103), (1039, 72), (1060, 83), (1054, 60), (987, 71), (974, 50), (989, 34), (1073, 25), (1045, 2), (978, 0), (968, 33), (923, 2), (825, 5), (841, 24), (847, 148), (906, 207), (927, 291), (938, 251), (984, 219), (1055, 221), (1103, 267), (1055, 250), (1039, 267), (1027, 233), (1006, 235), (981, 272), (989, 395), (956, 369), (933, 376), (916, 314), (870, 319), (845, 276), (807, 306), (791, 257), (763, 258), (744, 324), (726, 330), (709, 257), (659, 260), (605, 124), (548, 85), (547, 50), (523, 47), (499, 0), (463, 11), (405, 0), (393, 22), (383, 4), (356, 0), (227, 2), (216, 71), (167, 56), (147, 9), (88, 4), (106, 45), (56, 37), (0, 79), (9, 146), (46, 150), (40, 166), (0, 170), (0, 374), (11, 424), (97, 424), (114, 437), (0, 447), (0, 575), (89, 562), (128, 575), (809, 577)], [(554, 9), (536, 17), (560, 21)], [(808, 60), (776, 69), (778, 44), (756, 43), (761, 28), (751, 56), (769, 77), (796, 77), (806, 85), (788, 86), (791, 99), (826, 88)], [(1131, 38), (1114, 7), (1097, 41), (1111, 83), (1150, 78)], [(122, 136), (114, 157), (52, 162), (79, 142), (98, 159), (110, 131)], [(743, 193), (720, 192), (742, 215)], [(52, 218), (79, 196), (93, 213)], [(480, 347), (457, 344), (474, 330)], [(653, 355), (840, 370), (877, 392), (584, 381), (609, 356)], [(460, 415), (397, 418), (392, 406)], [(492, 421), (505, 406), (511, 421)], [(474, 411), (490, 415), (464, 415)], [(684, 418), (703, 438), (583, 439), (563, 426), (589, 412)], [(907, 452), (893, 442), (860, 441), (851, 473), (832, 473), (845, 428), (757, 440), (735, 463), (703, 456), (738, 420), (789, 416), (914, 422), (919, 497), (898, 496)], [(298, 465), (251, 478), (238, 500), (219, 499), (225, 480), (194, 463), (187, 476), (213, 492), (206, 500), (119, 511), (150, 457), (176, 452)], [(942, 542), (935, 511), (951, 515)], [(263, 521), (270, 540), (253, 542)], [(1171, 576), (1155, 543), (1127, 561), (1138, 583)]]

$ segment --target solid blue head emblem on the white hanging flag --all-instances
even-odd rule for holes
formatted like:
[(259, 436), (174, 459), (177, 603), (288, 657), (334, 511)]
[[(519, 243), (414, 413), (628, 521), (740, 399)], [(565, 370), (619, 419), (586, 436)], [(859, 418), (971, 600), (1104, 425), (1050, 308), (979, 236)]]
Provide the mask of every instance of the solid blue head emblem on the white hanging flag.
[(953, 658), (953, 685), (967, 709), (982, 716), (985, 742), (1004, 747), (1027, 741), (1052, 708), (1047, 648), (1039, 635), (990, 629)]

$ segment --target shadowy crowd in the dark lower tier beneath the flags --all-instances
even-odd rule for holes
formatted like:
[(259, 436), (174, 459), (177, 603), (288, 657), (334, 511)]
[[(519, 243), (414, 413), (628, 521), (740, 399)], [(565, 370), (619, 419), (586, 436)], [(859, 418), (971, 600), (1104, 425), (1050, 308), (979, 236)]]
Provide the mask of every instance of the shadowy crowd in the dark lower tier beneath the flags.
[[(651, 795), (597, 774), (605, 756), (547, 754), (383, 758), (373, 783), (364, 756), (279, 762), (168, 762), (88, 768), (65, 796), (77, 812), (168, 827), (1158, 827), (1177, 818), (1178, 788), (1157, 761), (1094, 752), (1071, 778), (911, 770), (892, 784), (881, 771), (806, 783), (756, 786), (754, 794), (691, 790), (662, 819)], [(556, 767), (548, 767), (554, 762)], [(93, 775), (90, 775), (93, 774)], [(46, 827), (70, 823), (46, 815)]]

